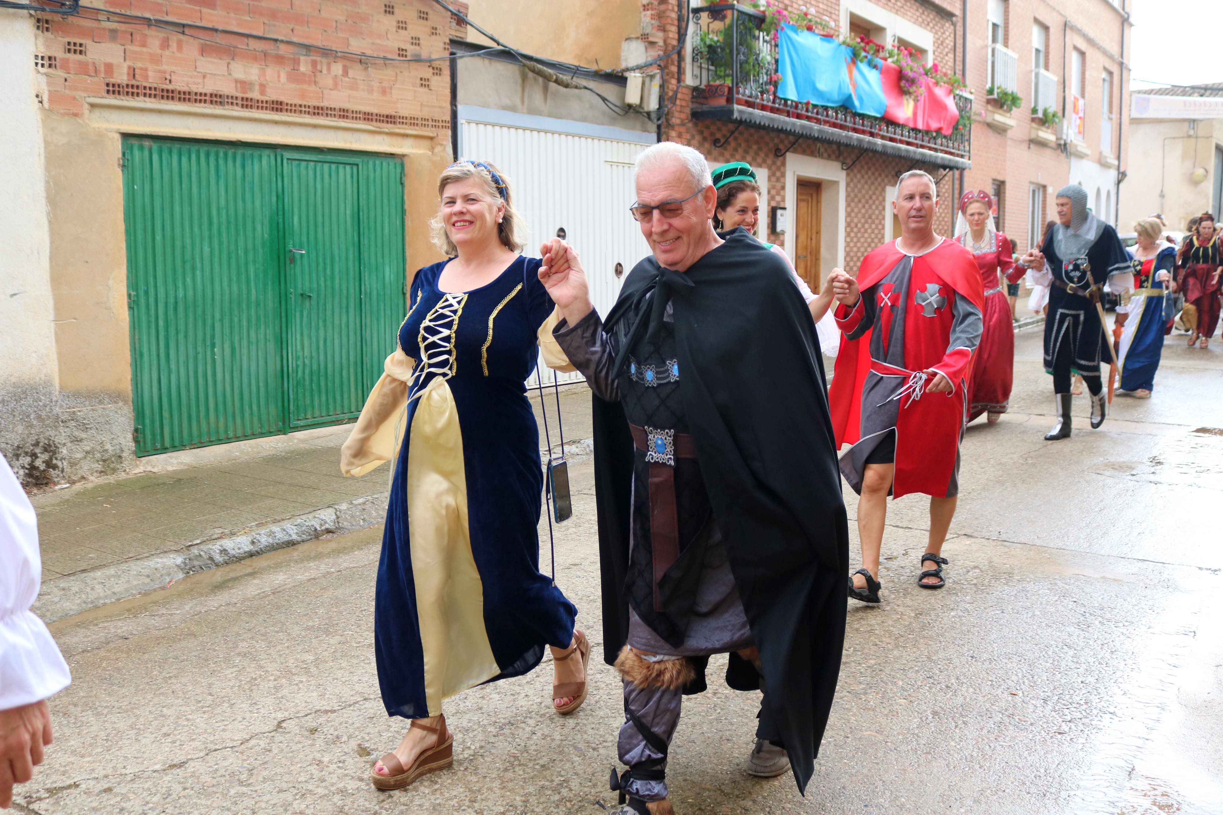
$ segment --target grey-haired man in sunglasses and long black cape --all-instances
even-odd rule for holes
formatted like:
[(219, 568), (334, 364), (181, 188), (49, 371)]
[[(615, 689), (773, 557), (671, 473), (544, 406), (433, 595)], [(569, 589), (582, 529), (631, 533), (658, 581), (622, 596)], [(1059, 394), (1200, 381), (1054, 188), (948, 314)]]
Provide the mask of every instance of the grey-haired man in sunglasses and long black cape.
[(656, 144), (634, 216), (653, 249), (600, 321), (574, 250), (544, 247), (553, 336), (594, 392), (604, 659), (624, 678), (613, 789), (671, 813), (667, 753), (712, 654), (763, 690), (748, 772), (805, 792), (845, 637), (848, 528), (819, 341), (777, 254), (713, 231), (704, 158)]

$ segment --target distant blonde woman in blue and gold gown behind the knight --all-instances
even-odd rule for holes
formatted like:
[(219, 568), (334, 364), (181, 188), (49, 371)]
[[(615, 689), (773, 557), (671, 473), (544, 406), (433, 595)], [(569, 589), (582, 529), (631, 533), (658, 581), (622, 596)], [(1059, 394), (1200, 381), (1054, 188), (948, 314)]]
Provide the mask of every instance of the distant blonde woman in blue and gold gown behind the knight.
[(1134, 257), (1134, 291), (1117, 308), (1118, 348), (1121, 365), (1119, 393), (1151, 398), (1155, 371), (1159, 368), (1163, 337), (1172, 327), (1172, 298), (1168, 288), (1177, 265), (1177, 247), (1161, 239), (1163, 224), (1146, 217), (1134, 225), (1137, 244)]

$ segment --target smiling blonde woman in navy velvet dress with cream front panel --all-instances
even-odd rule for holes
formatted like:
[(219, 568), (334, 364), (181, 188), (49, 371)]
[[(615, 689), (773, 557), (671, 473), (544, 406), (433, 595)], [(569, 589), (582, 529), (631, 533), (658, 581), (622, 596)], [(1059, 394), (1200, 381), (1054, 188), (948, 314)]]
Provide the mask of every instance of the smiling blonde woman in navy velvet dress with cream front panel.
[(434, 241), (456, 257), (417, 271), (399, 348), (341, 462), (349, 474), (395, 462), (374, 648), (386, 712), (412, 721), (372, 770), (383, 789), (450, 766), (448, 696), (531, 671), (549, 645), (553, 704), (569, 714), (589, 659), (577, 610), (539, 573), (543, 474), (523, 382), (554, 308), (541, 260), (517, 254), (519, 216), (495, 167), (459, 161), (438, 192)]

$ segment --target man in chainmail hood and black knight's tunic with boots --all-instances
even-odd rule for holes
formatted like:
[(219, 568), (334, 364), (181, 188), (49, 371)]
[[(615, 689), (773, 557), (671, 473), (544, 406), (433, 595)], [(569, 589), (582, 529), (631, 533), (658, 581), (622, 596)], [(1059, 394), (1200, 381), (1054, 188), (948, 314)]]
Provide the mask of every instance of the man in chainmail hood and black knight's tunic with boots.
[(1057, 194), (1057, 208), (1058, 222), (1040, 252), (1024, 257), (1035, 282), (1049, 287), (1044, 370), (1053, 374), (1058, 417), (1044, 436), (1049, 441), (1070, 436), (1073, 374), (1082, 376), (1091, 392), (1091, 426), (1098, 428), (1104, 422), (1107, 400), (1099, 365), (1101, 358), (1110, 354), (1097, 304), (1106, 286), (1115, 293), (1124, 292), (1131, 272), (1129, 254), (1117, 230), (1087, 209), (1086, 189), (1079, 185), (1063, 187)]

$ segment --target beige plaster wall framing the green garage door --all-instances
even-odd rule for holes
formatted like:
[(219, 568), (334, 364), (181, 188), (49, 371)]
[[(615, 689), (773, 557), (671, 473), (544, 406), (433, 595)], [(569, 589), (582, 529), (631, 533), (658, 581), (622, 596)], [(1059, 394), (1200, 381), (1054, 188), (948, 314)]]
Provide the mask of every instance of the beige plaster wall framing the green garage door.
[[(125, 133), (399, 154), (405, 169), (405, 279), (440, 257), (429, 241), (428, 221), (437, 211), (435, 178), (450, 163), (444, 134), (203, 106), (92, 103), (84, 117), (34, 111), (45, 154), (45, 174), (42, 161), (37, 165), (45, 205), (33, 209), (49, 214), (43, 272), (48, 313), (31, 309), (24, 319), (32, 330), (43, 326), (48, 336), (34, 345), (51, 354), (44, 365), (50, 418), (43, 423), (53, 429), (45, 434), (55, 452), (51, 480), (124, 472), (136, 463), (120, 169)], [(0, 196), (0, 202), (7, 199)], [(5, 305), (10, 303), (0, 302)], [(65, 353), (56, 358), (55, 348)], [(28, 349), (24, 356), (34, 358)]]

